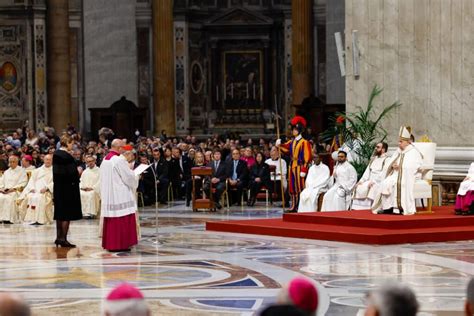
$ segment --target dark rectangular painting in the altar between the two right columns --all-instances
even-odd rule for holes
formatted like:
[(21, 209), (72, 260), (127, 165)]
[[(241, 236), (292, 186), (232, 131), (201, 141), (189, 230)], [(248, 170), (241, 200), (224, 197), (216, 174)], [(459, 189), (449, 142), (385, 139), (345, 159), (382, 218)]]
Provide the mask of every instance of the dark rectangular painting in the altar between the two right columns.
[(261, 51), (224, 52), (224, 104), (260, 107), (263, 99)]

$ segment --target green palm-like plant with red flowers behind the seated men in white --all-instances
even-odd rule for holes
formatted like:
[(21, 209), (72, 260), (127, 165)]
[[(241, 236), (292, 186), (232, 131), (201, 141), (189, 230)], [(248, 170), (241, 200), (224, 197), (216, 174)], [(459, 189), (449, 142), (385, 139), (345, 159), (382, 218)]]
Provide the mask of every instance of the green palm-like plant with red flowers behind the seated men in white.
[(374, 101), (382, 91), (382, 88), (375, 85), (365, 109), (357, 106), (355, 112), (336, 113), (330, 118), (330, 128), (321, 134), (326, 142), (334, 137), (342, 138), (351, 151), (353, 158), (351, 164), (356, 169), (359, 178), (370, 162), (375, 145), (387, 137), (387, 131), (381, 126), (382, 120), (388, 118), (395, 109), (401, 106), (401, 103), (396, 101), (384, 107), (377, 116), (374, 113)]

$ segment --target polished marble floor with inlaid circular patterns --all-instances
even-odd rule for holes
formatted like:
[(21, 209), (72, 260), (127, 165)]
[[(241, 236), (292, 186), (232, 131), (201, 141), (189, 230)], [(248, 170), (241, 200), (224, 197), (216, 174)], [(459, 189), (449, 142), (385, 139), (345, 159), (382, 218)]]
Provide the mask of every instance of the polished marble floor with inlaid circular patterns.
[(193, 213), (176, 202), (140, 216), (139, 245), (113, 254), (100, 247), (97, 220), (71, 224), (78, 248), (69, 250), (54, 247), (53, 225), (1, 224), (0, 291), (21, 293), (34, 315), (98, 315), (127, 281), (153, 315), (253, 315), (302, 274), (319, 285), (318, 315), (362, 314), (366, 292), (387, 279), (416, 291), (420, 315), (461, 315), (474, 274), (474, 241), (366, 246), (204, 230), (207, 220), (281, 216), (262, 207)]

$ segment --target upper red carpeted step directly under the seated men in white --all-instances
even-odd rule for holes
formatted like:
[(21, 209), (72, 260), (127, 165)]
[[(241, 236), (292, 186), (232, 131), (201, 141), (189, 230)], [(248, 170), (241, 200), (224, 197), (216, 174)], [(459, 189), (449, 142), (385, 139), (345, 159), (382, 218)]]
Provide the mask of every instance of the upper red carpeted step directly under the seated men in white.
[(296, 213), (284, 214), (283, 220), (295, 223), (383, 229), (474, 226), (474, 216), (456, 216), (450, 206), (433, 208), (433, 211), (433, 214), (412, 216), (374, 215), (371, 211)]

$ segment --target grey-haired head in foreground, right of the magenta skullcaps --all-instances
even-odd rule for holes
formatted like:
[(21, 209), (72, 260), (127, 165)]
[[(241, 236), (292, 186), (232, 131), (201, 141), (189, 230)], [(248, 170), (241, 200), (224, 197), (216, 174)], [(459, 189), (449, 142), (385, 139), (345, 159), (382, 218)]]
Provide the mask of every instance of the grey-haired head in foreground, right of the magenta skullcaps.
[(408, 286), (394, 282), (370, 293), (369, 303), (380, 316), (415, 316), (419, 307), (415, 293)]

